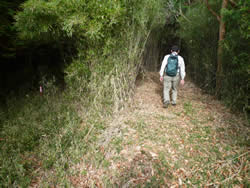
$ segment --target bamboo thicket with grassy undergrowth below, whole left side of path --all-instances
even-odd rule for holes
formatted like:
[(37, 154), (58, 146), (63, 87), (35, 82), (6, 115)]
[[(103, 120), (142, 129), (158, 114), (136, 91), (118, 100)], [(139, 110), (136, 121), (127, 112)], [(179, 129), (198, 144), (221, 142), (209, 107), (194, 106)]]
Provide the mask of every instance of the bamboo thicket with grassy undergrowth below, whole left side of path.
[[(28, 43), (70, 44), (66, 89), (12, 97), (0, 111), (0, 186), (70, 186), (71, 167), (95, 150), (105, 116), (133, 93), (148, 36), (164, 22), (162, 0), (35, 1), (15, 19)], [(143, 5), (143, 6), (142, 6)]]

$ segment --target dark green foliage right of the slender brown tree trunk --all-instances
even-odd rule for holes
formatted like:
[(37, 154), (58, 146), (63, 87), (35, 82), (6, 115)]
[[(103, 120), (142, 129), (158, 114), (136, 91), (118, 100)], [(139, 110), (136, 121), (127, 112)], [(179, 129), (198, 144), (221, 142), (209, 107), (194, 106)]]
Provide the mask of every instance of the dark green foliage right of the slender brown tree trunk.
[(250, 112), (250, 2), (239, 1), (236, 8), (224, 10), (227, 35), (223, 43), (224, 79), (222, 96), (231, 107)]

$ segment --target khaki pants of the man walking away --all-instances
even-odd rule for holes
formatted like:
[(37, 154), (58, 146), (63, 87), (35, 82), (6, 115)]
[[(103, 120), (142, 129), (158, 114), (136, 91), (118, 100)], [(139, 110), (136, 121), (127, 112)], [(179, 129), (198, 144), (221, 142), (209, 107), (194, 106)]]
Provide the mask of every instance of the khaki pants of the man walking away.
[(170, 90), (172, 89), (172, 104), (176, 104), (177, 89), (180, 82), (180, 76), (177, 74), (175, 77), (165, 75), (163, 82), (163, 102), (170, 103)]

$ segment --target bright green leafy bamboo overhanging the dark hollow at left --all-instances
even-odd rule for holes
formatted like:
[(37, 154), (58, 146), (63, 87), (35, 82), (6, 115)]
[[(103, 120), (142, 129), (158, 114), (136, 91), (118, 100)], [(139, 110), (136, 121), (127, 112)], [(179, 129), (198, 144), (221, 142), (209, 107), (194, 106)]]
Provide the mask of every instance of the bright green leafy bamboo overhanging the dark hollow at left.
[[(88, 90), (95, 94), (100, 92), (96, 86), (102, 85), (99, 82), (105, 77), (106, 82), (103, 83), (109, 87), (110, 80), (124, 80), (128, 83), (121, 85), (126, 87), (133, 85), (135, 71), (138, 70), (137, 60), (141, 57), (145, 41), (151, 29), (164, 21), (162, 1), (152, 0), (30, 0), (22, 7), (24, 11), (16, 16), (20, 37), (59, 44), (74, 40), (78, 53), (74, 63), (65, 70), (68, 86), (75, 85), (80, 91)], [(131, 77), (128, 78), (127, 74)], [(124, 75), (125, 79), (119, 78)], [(77, 80), (79, 83), (76, 84)], [(110, 91), (112, 89), (107, 90)], [(123, 99), (123, 95), (127, 95), (123, 92), (129, 89), (120, 91), (117, 97)], [(100, 95), (112, 97), (112, 94)]]

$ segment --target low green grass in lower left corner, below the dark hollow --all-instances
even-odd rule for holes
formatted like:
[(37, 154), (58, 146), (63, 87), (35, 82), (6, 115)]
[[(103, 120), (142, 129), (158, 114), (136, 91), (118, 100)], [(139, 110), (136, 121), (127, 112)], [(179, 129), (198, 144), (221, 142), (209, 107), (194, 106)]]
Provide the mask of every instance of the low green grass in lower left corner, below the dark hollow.
[(0, 187), (70, 185), (70, 168), (105, 128), (95, 114), (83, 122), (72, 100), (54, 91), (12, 99), (1, 115)]

